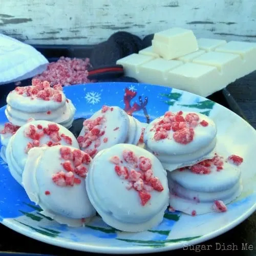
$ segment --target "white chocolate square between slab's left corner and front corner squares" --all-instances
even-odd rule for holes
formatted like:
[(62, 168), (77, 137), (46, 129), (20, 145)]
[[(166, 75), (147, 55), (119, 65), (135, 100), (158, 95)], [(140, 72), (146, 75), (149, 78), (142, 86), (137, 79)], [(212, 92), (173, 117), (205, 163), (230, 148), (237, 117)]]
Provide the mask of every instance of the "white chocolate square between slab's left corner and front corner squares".
[(153, 59), (139, 67), (139, 77), (146, 83), (165, 85), (168, 84), (167, 72), (181, 65), (183, 62), (178, 60)]

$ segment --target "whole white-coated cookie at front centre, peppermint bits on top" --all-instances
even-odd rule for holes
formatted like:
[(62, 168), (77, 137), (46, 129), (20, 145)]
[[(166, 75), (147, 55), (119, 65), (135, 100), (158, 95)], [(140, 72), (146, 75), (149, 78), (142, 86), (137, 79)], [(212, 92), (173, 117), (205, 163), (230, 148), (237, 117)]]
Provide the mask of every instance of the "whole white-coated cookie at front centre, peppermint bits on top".
[(153, 154), (136, 145), (117, 144), (99, 152), (86, 189), (103, 221), (123, 231), (157, 226), (168, 206), (166, 171)]

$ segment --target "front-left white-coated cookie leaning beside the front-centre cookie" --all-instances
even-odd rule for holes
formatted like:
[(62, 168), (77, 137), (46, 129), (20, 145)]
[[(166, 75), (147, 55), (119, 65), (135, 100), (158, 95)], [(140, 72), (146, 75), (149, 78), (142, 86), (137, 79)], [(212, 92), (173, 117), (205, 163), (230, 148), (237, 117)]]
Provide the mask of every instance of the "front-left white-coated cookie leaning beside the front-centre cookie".
[(95, 216), (85, 178), (90, 156), (71, 146), (35, 147), (27, 157), (22, 184), (42, 215), (61, 224), (82, 226)]

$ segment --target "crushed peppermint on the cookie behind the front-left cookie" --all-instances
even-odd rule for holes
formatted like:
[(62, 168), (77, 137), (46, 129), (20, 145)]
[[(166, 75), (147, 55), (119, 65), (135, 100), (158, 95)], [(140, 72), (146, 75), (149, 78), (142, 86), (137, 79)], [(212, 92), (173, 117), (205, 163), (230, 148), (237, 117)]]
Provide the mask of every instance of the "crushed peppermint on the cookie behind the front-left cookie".
[[(72, 138), (65, 134), (59, 134), (59, 126), (55, 123), (50, 123), (48, 124), (48, 127), (44, 128), (41, 124), (30, 124), (25, 128), (24, 136), (32, 140), (27, 143), (25, 153), (28, 153), (32, 147), (38, 147), (40, 145), (49, 147), (60, 145), (61, 139), (63, 139), (67, 144), (72, 145)], [(50, 140), (45, 144), (41, 144), (40, 140), (45, 136), (49, 136)]]

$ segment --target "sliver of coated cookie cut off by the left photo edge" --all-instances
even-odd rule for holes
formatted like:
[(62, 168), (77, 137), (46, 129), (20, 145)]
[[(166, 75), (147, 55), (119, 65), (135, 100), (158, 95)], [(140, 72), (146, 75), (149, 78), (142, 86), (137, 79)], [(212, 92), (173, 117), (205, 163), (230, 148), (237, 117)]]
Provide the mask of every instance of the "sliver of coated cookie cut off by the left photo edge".
[(10, 138), (13, 134), (17, 132), (20, 126), (13, 125), (12, 123), (5, 123), (4, 129), (0, 131), (0, 142), (1, 142), (1, 150), (0, 157), (7, 162), (6, 160), (6, 147), (9, 143)]

